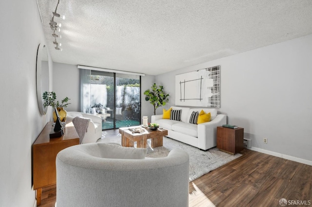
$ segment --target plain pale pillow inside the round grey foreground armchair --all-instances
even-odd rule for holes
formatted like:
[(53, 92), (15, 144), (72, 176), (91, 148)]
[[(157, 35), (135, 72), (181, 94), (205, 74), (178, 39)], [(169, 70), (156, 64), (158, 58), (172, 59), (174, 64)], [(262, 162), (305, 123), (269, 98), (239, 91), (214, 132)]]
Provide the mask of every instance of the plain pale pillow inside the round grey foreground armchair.
[(117, 144), (98, 143), (102, 158), (112, 159), (144, 159), (146, 148), (122, 147)]

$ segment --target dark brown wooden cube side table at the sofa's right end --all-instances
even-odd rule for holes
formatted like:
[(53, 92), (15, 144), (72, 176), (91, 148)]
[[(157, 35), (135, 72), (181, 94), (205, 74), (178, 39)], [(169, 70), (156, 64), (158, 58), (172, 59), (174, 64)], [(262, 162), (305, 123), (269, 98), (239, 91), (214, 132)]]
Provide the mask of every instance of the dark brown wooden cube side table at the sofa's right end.
[(216, 128), (216, 147), (232, 155), (244, 149), (244, 128), (237, 129), (218, 126)]

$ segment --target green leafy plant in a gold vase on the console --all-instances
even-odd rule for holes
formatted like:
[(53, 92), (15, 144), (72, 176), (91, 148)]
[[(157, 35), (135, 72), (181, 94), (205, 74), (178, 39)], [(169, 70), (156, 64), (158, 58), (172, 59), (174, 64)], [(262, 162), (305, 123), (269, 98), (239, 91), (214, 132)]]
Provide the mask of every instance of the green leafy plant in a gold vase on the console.
[[(67, 112), (64, 110), (64, 107), (67, 107), (67, 103), (70, 99), (68, 97), (65, 97), (63, 100), (61, 100), (61, 103), (59, 101), (56, 101), (57, 95), (54, 91), (52, 92), (47, 92), (44, 91), (42, 94), (42, 99), (43, 99), (43, 107), (48, 107), (49, 105), (54, 107), (57, 107), (58, 112), (59, 112), (59, 117), (61, 121), (66, 121), (66, 115)], [(53, 119), (54, 121), (57, 120), (57, 115), (55, 114), (55, 111), (53, 111)]]

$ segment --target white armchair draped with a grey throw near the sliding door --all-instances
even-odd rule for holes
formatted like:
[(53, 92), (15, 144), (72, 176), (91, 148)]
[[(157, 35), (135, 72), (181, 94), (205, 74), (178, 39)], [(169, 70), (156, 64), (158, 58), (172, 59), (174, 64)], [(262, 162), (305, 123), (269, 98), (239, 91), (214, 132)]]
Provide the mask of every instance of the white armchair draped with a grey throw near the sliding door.
[(91, 119), (87, 132), (84, 135), (82, 144), (97, 142), (102, 137), (102, 118), (93, 114), (67, 111), (66, 122), (72, 121), (75, 117), (85, 117)]

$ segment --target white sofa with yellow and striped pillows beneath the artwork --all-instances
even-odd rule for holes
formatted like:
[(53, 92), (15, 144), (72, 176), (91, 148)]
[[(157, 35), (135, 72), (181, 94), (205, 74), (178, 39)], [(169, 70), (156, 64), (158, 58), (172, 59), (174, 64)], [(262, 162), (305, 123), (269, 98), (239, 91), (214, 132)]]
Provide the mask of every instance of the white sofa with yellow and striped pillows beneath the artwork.
[[(202, 150), (208, 150), (216, 146), (216, 127), (226, 124), (226, 115), (217, 114), (215, 108), (187, 108), (173, 106), (172, 110), (181, 109), (181, 121), (162, 119), (163, 115), (153, 115), (151, 122), (158, 123), (159, 127), (168, 130), (169, 138), (176, 139)], [(211, 113), (211, 121), (193, 124), (190, 117), (193, 111), (198, 113), (204, 110)]]

